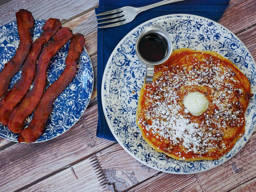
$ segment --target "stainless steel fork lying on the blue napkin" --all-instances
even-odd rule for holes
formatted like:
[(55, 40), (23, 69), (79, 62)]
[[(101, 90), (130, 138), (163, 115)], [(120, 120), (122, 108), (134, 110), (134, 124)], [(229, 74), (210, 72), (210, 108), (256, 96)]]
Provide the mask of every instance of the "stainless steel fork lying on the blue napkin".
[(178, 1), (184, 1), (184, 0), (164, 0), (164, 1), (160, 1), (155, 4), (144, 6), (144, 7), (125, 6), (125, 7), (119, 8), (119, 9), (115, 9), (112, 11), (107, 11), (104, 13), (97, 14), (96, 16), (109, 15), (109, 14), (111, 14), (111, 15), (107, 16), (107, 17), (103, 17), (103, 18), (98, 18), (96, 20), (109, 19), (106, 21), (99, 22), (98, 25), (114, 22), (109, 25), (100, 26), (99, 28), (115, 27), (115, 26), (119, 26), (119, 25), (124, 25), (126, 23), (131, 22), (136, 17), (136, 15), (138, 15), (140, 12), (146, 11), (148, 9), (152, 9), (152, 8), (160, 6), (160, 5), (174, 3), (174, 2), (178, 2)]

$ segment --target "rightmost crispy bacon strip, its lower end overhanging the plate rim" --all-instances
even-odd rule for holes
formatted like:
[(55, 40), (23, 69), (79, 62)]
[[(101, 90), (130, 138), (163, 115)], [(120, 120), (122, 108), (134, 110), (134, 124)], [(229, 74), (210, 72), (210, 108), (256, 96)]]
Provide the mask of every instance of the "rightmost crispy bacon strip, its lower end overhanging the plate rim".
[(83, 35), (76, 34), (72, 37), (66, 58), (66, 68), (58, 80), (53, 82), (44, 92), (36, 107), (33, 119), (28, 127), (19, 134), (18, 142), (35, 142), (44, 133), (46, 121), (52, 112), (53, 100), (60, 95), (76, 74), (76, 60), (83, 51), (83, 45)]

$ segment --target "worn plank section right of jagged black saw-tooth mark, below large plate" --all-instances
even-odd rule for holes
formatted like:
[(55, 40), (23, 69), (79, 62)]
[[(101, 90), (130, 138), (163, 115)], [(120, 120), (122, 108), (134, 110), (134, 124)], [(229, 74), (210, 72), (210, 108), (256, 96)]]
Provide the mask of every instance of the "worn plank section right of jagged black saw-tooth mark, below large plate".
[(97, 153), (94, 166), (100, 170), (101, 184), (123, 191), (159, 173), (129, 155), (119, 144)]

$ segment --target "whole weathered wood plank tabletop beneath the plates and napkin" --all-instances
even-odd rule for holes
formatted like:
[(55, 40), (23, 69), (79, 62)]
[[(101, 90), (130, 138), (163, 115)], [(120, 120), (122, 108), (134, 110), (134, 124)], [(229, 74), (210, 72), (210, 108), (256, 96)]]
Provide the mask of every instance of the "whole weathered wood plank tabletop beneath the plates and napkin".
[[(34, 18), (59, 18), (82, 33), (97, 83), (98, 0), (0, 1), (0, 26), (24, 8)], [(220, 24), (237, 35), (256, 59), (256, 1), (231, 0)], [(117, 143), (96, 137), (97, 97), (79, 121), (47, 142), (25, 144), (0, 137), (0, 191), (256, 191), (255, 132), (235, 157), (207, 172), (170, 174), (149, 168)]]

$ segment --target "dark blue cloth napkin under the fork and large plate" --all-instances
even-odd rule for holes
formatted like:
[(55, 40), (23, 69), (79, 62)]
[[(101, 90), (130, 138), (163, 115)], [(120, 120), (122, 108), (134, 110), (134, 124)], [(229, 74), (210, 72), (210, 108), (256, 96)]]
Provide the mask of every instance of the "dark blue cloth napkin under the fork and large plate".
[[(159, 2), (160, 0), (99, 0), (96, 14), (124, 6), (141, 7)], [(109, 28), (98, 28), (98, 65), (97, 65), (97, 98), (98, 98), (98, 127), (97, 137), (116, 141), (104, 117), (101, 103), (101, 82), (108, 58), (121, 39), (141, 23), (168, 14), (192, 14), (218, 21), (229, 5), (229, 0), (185, 0), (162, 5), (141, 12), (136, 18), (125, 25)]]

